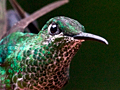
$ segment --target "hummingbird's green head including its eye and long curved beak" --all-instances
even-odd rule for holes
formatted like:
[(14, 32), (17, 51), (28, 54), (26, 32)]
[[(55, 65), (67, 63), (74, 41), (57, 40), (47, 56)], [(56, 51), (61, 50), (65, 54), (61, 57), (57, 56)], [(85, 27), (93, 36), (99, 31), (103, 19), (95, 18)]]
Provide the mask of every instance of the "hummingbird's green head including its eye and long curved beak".
[(107, 40), (100, 36), (85, 33), (84, 26), (78, 21), (64, 16), (51, 18), (44, 25), (41, 32), (46, 37), (44, 44), (59, 42), (68, 45), (73, 41), (81, 44), (85, 40), (95, 40), (108, 44)]

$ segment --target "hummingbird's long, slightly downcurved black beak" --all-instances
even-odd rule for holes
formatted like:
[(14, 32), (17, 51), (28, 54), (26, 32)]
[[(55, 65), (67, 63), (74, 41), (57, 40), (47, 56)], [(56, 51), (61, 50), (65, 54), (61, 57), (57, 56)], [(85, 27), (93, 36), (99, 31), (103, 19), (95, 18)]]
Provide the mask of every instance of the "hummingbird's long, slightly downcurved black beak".
[(102, 43), (108, 45), (108, 41), (106, 39), (104, 39), (103, 37), (91, 34), (91, 33), (81, 32), (80, 34), (74, 35), (73, 37), (75, 39), (95, 40), (95, 41), (99, 41), (99, 42), (102, 42)]

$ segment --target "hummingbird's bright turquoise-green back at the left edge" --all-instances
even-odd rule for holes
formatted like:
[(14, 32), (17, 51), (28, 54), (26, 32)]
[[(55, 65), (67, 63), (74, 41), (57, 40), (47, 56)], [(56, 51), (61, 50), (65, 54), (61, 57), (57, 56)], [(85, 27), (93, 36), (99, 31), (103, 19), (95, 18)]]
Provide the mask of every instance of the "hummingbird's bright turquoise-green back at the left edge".
[[(32, 33), (14, 32), (7, 37), (3, 38), (0, 42), (0, 90), (4, 90), (6, 85), (10, 85), (10, 79), (13, 76), (11, 67), (13, 64), (17, 64), (15, 55), (18, 56), (18, 52), (24, 45), (24, 42), (33, 37)], [(22, 48), (24, 49), (24, 48)], [(17, 65), (16, 65), (17, 66)], [(17, 68), (15, 70), (18, 70)], [(14, 70), (14, 71), (15, 71)], [(9, 74), (9, 75), (8, 75)], [(6, 79), (8, 78), (9, 79)]]

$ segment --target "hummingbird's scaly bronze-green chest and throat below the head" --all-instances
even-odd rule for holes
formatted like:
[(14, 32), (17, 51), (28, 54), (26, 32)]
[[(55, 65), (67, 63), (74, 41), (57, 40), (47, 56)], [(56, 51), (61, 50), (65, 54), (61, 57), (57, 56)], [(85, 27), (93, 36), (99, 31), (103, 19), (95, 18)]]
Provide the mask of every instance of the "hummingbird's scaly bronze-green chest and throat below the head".
[(22, 75), (17, 73), (13, 77), (16, 88), (23, 90), (62, 88), (69, 79), (70, 62), (80, 45), (73, 46), (65, 45), (61, 49), (40, 46), (24, 50), (19, 72)]

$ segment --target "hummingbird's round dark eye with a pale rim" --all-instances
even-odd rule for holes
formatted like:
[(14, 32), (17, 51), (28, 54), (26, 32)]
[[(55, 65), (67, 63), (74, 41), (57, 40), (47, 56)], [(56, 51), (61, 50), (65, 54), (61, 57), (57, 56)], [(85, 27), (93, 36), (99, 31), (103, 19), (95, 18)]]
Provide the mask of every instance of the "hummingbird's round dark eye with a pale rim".
[(48, 32), (51, 34), (51, 35), (56, 35), (56, 34), (59, 34), (60, 33), (60, 29), (58, 28), (58, 25), (56, 23), (52, 23), (49, 25), (48, 27)]

